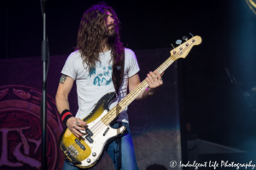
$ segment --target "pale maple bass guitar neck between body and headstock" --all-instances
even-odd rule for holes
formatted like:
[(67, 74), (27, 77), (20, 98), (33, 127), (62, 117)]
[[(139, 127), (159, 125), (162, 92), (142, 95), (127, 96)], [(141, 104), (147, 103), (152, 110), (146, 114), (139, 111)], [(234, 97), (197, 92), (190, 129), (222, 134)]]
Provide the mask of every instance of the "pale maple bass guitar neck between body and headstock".
[[(156, 71), (158, 71), (160, 74), (166, 71), (166, 69), (172, 65), (172, 63), (176, 60), (174, 56), (169, 57), (166, 59), (166, 61), (160, 65)], [(130, 94), (126, 95), (124, 99), (122, 99), (118, 105), (114, 106), (113, 109), (108, 111), (108, 114), (106, 116), (102, 117), (102, 122), (104, 124), (108, 125), (110, 122), (112, 122), (119, 114), (125, 110), (125, 108), (131, 104), (131, 102), (137, 98), (139, 94), (142, 94), (145, 89), (148, 88), (148, 82), (146, 80), (143, 80), (137, 88), (131, 91)]]

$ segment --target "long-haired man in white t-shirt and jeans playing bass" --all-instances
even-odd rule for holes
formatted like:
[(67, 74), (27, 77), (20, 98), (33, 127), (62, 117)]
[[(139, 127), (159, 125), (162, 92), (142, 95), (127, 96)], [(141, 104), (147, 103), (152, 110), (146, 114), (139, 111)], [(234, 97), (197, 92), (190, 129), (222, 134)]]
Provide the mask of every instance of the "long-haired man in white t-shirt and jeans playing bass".
[[(105, 3), (92, 6), (84, 12), (79, 26), (76, 51), (70, 54), (61, 71), (62, 76), (56, 94), (56, 105), (61, 113), (61, 120), (78, 138), (79, 130), (85, 130), (85, 116), (93, 110), (97, 101), (104, 94), (114, 92), (113, 65), (125, 59), (123, 82), (118, 89), (118, 96), (113, 100), (110, 109), (118, 104), (127, 94), (127, 86), (131, 92), (140, 84), (137, 72), (139, 66), (131, 49), (124, 48), (119, 41), (119, 19), (113, 8)], [(77, 81), (79, 111), (73, 117), (69, 111), (68, 94)], [(146, 78), (148, 87), (137, 99), (145, 99), (153, 95), (163, 84), (159, 72), (150, 72)], [(119, 114), (113, 127), (125, 125), (125, 134), (108, 145), (107, 151), (116, 169), (138, 169), (134, 148), (131, 140), (127, 108)], [(70, 161), (65, 161), (63, 169), (79, 169)]]

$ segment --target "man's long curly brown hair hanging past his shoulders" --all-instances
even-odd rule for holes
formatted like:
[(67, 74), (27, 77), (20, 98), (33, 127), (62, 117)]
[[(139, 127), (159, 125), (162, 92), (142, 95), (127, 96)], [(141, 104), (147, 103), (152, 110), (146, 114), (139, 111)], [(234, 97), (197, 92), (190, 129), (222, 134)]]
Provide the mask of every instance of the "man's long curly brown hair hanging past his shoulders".
[[(113, 14), (113, 36), (108, 34), (107, 26), (107, 12)], [(77, 37), (76, 49), (79, 50), (83, 63), (87, 65), (85, 69), (95, 67), (96, 62), (99, 61), (99, 53), (104, 48), (104, 42), (107, 42), (108, 47), (111, 49), (111, 57), (113, 64), (118, 62), (119, 59), (123, 59), (125, 56), (125, 50), (123, 43), (120, 42), (120, 21), (113, 10), (106, 3), (99, 3), (83, 14), (83, 17), (79, 26), (79, 34)]]

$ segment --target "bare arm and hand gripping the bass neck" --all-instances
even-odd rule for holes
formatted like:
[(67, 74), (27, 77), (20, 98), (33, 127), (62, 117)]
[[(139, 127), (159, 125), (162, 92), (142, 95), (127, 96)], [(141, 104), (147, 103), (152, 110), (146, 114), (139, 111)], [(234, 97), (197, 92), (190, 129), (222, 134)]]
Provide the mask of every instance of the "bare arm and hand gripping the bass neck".
[[(162, 74), (163, 75), (163, 74)], [(146, 81), (148, 82), (148, 88), (145, 89), (145, 91), (137, 96), (137, 99), (146, 99), (149, 96), (155, 94), (160, 86), (163, 84), (162, 78), (158, 71), (149, 72), (147, 75)], [(138, 74), (129, 77), (128, 78), (129, 83), (129, 91), (131, 92), (134, 88), (137, 88), (137, 86), (141, 83), (140, 77)]]

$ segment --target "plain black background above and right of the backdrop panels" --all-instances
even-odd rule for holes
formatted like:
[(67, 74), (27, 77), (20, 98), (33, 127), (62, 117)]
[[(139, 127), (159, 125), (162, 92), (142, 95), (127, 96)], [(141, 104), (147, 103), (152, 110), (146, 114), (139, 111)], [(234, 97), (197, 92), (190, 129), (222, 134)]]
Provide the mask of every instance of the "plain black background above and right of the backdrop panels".
[[(82, 14), (98, 2), (48, 1), (51, 55), (73, 52)], [(127, 48), (171, 50), (171, 43), (190, 37), (189, 32), (201, 36), (201, 45), (183, 60), (185, 122), (197, 138), (256, 151), (256, 111), (241, 93), (254, 99), (249, 102), (255, 108), (256, 15), (246, 0), (105, 2), (119, 16)], [(40, 56), (42, 27), (38, 0), (1, 0), (1, 59)], [(230, 82), (225, 67), (241, 90)]]

